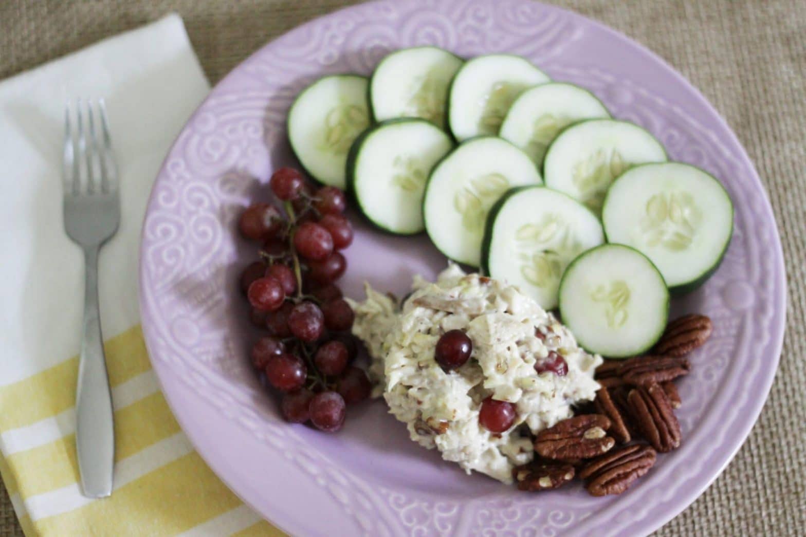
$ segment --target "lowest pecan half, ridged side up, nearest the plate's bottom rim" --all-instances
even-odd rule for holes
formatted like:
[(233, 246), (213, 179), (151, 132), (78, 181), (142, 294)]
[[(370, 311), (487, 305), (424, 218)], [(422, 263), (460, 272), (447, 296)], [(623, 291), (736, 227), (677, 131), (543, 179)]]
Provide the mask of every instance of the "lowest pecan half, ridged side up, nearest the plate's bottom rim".
[(614, 449), (592, 460), (579, 476), (587, 480), (585, 488), (592, 496), (621, 494), (654, 464), (656, 454), (647, 445), (634, 444)]

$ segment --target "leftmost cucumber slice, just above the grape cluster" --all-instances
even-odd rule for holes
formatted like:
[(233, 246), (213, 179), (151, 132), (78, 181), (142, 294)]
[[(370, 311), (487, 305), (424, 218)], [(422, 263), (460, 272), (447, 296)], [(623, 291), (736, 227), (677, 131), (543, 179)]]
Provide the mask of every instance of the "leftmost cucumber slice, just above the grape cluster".
[(367, 77), (322, 77), (302, 90), (289, 110), (289, 141), (311, 177), (344, 189), (347, 152), (369, 125)]

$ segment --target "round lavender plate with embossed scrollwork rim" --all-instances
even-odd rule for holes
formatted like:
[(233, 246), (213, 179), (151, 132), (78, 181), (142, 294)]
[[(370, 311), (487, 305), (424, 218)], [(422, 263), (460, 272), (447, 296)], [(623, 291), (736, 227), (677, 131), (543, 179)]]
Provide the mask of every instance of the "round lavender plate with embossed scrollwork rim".
[[(236, 238), (272, 169), (293, 164), (285, 114), (329, 73), (370, 73), (387, 52), (435, 44), (460, 56), (512, 52), (583, 85), (613, 115), (658, 136), (674, 160), (718, 177), (736, 205), (717, 273), (673, 313), (713, 318), (708, 344), (679, 383), (683, 445), (627, 493), (578, 484), (518, 493), (466, 476), (409, 441), (382, 402), (351, 408), (326, 435), (285, 423), (247, 363), (255, 334), (235, 281), (255, 256)], [(347, 294), (402, 293), (445, 260), (424, 237), (394, 238), (351, 215)], [(733, 457), (762, 408), (784, 327), (783, 259), (767, 195), (733, 132), (692, 85), (623, 35), (526, 0), (372, 2), (338, 11), (261, 48), (213, 90), (157, 177), (140, 252), (148, 351), (174, 414), (210, 467), (255, 510), (294, 535), (640, 535), (690, 504)], [(509, 535), (509, 533), (507, 535)]]

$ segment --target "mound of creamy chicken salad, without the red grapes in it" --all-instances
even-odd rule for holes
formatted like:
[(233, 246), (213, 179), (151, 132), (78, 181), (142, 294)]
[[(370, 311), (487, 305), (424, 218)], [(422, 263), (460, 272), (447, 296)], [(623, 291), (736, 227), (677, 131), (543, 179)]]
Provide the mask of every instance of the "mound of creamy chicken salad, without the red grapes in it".
[[(438, 449), (468, 473), (512, 481), (512, 468), (534, 456), (530, 433), (573, 414), (572, 405), (592, 400), (602, 360), (584, 352), (573, 335), (517, 288), (451, 264), (436, 283), (415, 277), (402, 306), (366, 286), (367, 299), (351, 302), (353, 333), (372, 356), (373, 395), (406, 423), (411, 439)], [(473, 343), (470, 360), (446, 373), (434, 348), (446, 331), (465, 331)], [(537, 373), (550, 351), (566, 361), (568, 373)], [(513, 427), (502, 434), (479, 423), (484, 398), (512, 402)]]

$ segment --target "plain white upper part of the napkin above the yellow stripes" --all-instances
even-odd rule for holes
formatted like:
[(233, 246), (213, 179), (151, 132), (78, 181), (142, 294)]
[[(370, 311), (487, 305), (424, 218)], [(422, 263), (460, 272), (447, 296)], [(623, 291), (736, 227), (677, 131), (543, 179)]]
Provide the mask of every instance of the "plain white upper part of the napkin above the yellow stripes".
[(64, 105), (105, 98), (121, 220), (101, 251), (105, 339), (139, 323), (139, 235), (152, 181), (210, 91), (179, 15), (0, 82), (0, 385), (75, 355), (83, 257), (64, 235)]

